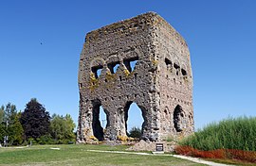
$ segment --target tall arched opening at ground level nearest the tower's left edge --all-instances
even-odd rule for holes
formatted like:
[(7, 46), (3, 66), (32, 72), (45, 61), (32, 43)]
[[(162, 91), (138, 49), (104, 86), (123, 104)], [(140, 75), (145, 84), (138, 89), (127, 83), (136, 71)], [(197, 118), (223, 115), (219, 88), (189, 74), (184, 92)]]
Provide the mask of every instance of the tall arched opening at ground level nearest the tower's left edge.
[[(103, 112), (105, 112), (105, 116), (104, 116)], [(104, 121), (104, 118), (105, 118), (105, 121)], [(103, 123), (104, 123), (104, 125), (103, 125)], [(108, 125), (108, 115), (107, 115), (106, 111), (101, 107), (101, 101), (94, 100), (93, 101), (92, 128), (93, 128), (94, 137), (96, 137), (99, 141), (104, 140), (104, 128), (107, 125)]]

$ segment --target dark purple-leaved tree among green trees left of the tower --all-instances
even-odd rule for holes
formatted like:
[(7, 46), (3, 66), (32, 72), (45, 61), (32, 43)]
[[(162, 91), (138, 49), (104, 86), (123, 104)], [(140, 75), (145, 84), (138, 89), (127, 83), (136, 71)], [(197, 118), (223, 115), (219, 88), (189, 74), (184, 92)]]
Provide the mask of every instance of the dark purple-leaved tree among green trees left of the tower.
[(49, 112), (35, 98), (27, 103), (21, 114), (20, 122), (23, 125), (26, 139), (37, 139), (49, 133)]

